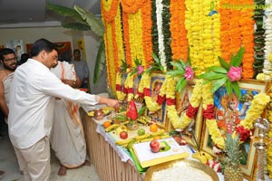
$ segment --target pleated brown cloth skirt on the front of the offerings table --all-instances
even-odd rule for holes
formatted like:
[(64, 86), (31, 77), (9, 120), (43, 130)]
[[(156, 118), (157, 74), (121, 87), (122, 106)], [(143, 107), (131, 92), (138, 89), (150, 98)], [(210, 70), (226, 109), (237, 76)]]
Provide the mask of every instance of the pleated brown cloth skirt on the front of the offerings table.
[(112, 146), (96, 132), (97, 123), (81, 109), (87, 153), (101, 181), (143, 181), (134, 163), (122, 162)]

